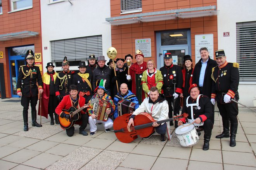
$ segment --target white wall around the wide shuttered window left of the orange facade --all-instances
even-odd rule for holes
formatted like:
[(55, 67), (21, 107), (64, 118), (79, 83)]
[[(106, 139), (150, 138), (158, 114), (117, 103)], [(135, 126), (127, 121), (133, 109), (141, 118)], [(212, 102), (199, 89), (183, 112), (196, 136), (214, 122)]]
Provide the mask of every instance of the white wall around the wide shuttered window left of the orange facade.
[[(102, 35), (103, 55), (107, 57), (106, 51), (111, 46), (111, 25), (105, 19), (111, 16), (110, 0), (70, 0), (74, 5), (68, 1), (47, 2), (49, 0), (40, 2), (43, 71), (51, 62), (50, 41), (53, 40)], [(48, 49), (44, 50), (44, 47)]]

